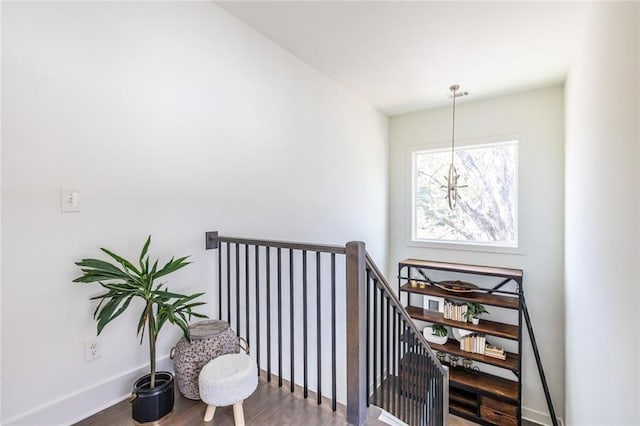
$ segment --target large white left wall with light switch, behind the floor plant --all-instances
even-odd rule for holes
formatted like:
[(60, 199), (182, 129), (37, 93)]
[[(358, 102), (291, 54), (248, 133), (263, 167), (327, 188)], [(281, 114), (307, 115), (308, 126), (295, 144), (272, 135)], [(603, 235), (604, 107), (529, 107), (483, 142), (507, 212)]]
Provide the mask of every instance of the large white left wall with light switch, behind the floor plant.
[(333, 81), (209, 2), (2, 9), (3, 423), (78, 419), (148, 359), (131, 312), (84, 362), (97, 289), (73, 262), (100, 246), (191, 254), (185, 292), (213, 282), (209, 230), (364, 240), (386, 263), (387, 119)]

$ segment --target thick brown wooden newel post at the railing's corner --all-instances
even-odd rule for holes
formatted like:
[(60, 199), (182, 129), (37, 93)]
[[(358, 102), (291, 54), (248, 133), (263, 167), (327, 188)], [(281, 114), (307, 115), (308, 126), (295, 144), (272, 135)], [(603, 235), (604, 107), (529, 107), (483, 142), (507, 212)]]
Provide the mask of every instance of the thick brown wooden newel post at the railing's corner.
[(347, 272), (347, 422), (360, 426), (367, 420), (366, 273), (365, 246), (346, 246)]

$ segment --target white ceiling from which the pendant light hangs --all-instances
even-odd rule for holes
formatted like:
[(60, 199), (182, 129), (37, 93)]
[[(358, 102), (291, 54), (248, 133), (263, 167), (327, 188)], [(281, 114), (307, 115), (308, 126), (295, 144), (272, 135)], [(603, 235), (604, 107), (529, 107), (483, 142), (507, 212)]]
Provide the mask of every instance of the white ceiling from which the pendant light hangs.
[(564, 82), (587, 2), (216, 2), (388, 115)]

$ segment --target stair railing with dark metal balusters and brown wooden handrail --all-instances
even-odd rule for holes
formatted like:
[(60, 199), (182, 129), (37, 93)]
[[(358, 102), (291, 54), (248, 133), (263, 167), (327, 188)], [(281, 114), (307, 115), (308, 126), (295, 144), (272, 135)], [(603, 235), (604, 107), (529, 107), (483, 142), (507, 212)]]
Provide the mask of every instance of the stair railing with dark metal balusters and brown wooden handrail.
[[(368, 407), (411, 425), (447, 424), (448, 372), (437, 361), (362, 242), (346, 246), (223, 237), (217, 316), (252, 348), (271, 381), (362, 425)], [(346, 356), (345, 356), (346, 355)]]

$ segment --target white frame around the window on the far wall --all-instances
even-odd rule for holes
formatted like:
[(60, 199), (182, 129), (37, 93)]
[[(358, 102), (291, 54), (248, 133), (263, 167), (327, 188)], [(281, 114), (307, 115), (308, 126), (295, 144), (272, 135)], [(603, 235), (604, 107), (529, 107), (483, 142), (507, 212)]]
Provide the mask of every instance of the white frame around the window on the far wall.
[(522, 164), (522, 149), (524, 146), (522, 135), (510, 135), (502, 137), (490, 137), (490, 138), (474, 138), (466, 140), (456, 140), (456, 150), (469, 149), (475, 147), (490, 147), (492, 145), (503, 145), (507, 143), (516, 143), (516, 217), (515, 217), (515, 232), (516, 232), (516, 244), (508, 243), (495, 243), (495, 242), (474, 242), (474, 241), (452, 241), (452, 240), (426, 240), (418, 239), (415, 235), (416, 225), (416, 209), (415, 209), (415, 195), (416, 195), (416, 167), (415, 167), (415, 154), (422, 151), (447, 151), (451, 149), (451, 142), (439, 142), (426, 145), (414, 145), (407, 148), (407, 181), (409, 194), (407, 197), (406, 206), (409, 211), (405, 215), (408, 218), (407, 224), (407, 246), (421, 247), (421, 248), (434, 248), (434, 249), (448, 249), (448, 250), (469, 250), (479, 252), (493, 252), (493, 253), (505, 253), (505, 254), (524, 254), (525, 253), (525, 235), (522, 227), (520, 226), (523, 221), (523, 209), (522, 209), (522, 197), (520, 191), (522, 189), (521, 178), (523, 176), (523, 164)]

